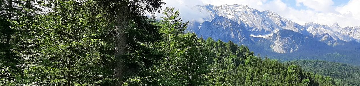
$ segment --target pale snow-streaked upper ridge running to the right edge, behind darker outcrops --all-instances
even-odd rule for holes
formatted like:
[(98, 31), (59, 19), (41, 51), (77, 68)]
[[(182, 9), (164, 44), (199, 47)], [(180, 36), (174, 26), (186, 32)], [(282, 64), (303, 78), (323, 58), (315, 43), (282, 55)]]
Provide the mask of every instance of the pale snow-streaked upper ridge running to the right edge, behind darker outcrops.
[[(328, 26), (312, 22), (299, 25), (273, 11), (259, 11), (247, 5), (214, 6), (207, 4), (194, 6), (193, 9), (197, 9), (202, 15), (206, 15), (203, 18), (203, 20), (206, 21), (211, 21), (217, 16), (224, 16), (225, 18), (233, 20), (244, 26), (250, 35), (272, 35), (279, 30), (288, 29), (303, 35), (322, 35), (327, 33), (335, 40), (340, 39), (346, 42), (356, 40), (360, 42), (359, 26), (342, 28), (337, 23)], [(193, 32), (193, 30), (201, 27), (202, 23), (203, 22), (198, 22), (197, 20), (191, 21), (188, 31)]]

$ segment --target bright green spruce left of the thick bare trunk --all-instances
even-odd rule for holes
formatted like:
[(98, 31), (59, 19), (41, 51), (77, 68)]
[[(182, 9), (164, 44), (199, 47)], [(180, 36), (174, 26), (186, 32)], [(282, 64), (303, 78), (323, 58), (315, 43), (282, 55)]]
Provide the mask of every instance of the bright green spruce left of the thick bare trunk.
[(37, 16), (33, 27), (38, 28), (39, 56), (32, 57), (28, 71), (30, 85), (74, 86), (101, 84), (104, 76), (94, 55), (102, 42), (91, 38), (85, 25), (84, 2), (77, 0), (50, 0), (53, 10)]

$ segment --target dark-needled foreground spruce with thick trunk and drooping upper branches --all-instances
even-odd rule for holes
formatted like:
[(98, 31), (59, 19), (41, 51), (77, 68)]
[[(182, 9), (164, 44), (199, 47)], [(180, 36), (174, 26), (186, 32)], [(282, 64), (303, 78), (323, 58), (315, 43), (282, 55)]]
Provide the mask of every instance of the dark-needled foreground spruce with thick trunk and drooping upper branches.
[(159, 27), (145, 14), (159, 12), (162, 0), (89, 0), (94, 9), (114, 26), (114, 58), (112, 72), (116, 86), (130, 77), (144, 73), (161, 59), (153, 43), (160, 39)]

